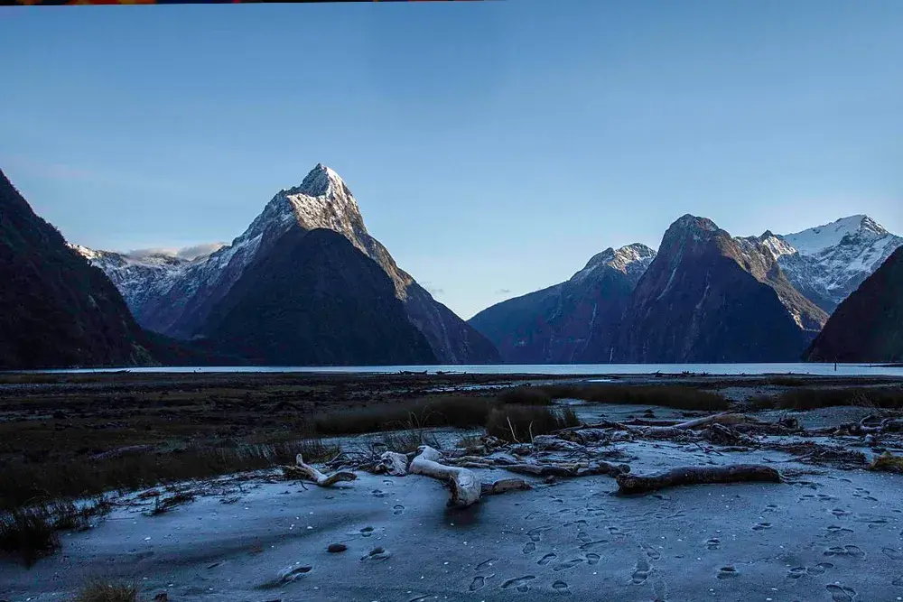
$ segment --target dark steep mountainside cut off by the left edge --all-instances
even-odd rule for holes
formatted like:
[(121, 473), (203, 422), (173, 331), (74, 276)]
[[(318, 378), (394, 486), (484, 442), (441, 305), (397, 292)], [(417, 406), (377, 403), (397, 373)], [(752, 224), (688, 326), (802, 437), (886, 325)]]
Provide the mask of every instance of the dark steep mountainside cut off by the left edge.
[(154, 361), (107, 276), (34, 214), (0, 171), (0, 368)]

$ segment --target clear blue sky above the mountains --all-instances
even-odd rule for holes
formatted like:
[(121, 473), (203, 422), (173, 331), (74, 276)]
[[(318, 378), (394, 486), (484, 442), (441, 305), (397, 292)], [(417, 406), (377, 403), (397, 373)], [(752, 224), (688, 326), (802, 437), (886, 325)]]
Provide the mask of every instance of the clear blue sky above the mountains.
[(72, 242), (231, 240), (317, 162), (462, 317), (684, 213), (903, 233), (903, 3), (0, 8), (0, 167)]

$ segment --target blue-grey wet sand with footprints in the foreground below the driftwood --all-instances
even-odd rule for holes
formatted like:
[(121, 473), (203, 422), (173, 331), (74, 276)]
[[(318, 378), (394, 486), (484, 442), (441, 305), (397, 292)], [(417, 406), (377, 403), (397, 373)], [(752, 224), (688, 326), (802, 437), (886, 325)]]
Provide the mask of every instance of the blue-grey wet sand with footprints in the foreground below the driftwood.
[[(449, 510), (442, 485), (377, 477), (324, 489), (221, 480), (158, 516), (117, 509), (31, 570), (4, 564), (11, 600), (61, 599), (90, 576), (173, 600), (895, 600), (903, 596), (903, 477), (813, 468), (779, 452), (620, 444), (634, 472), (763, 462), (788, 484), (614, 495), (610, 477)], [(716, 448), (717, 449), (717, 448)], [(484, 480), (507, 476), (480, 471)], [(133, 497), (133, 499), (135, 499)], [(228, 502), (228, 503), (227, 503)], [(348, 550), (330, 553), (330, 543)], [(383, 552), (371, 553), (381, 548)]]

